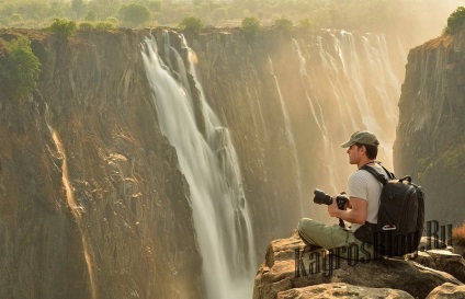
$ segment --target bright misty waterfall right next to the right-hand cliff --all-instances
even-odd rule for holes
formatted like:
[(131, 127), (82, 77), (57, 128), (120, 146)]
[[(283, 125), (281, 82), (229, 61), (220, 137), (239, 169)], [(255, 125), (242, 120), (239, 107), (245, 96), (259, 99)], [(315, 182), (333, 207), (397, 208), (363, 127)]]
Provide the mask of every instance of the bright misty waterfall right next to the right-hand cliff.
[[(386, 39), (383, 35), (365, 34), (356, 41), (356, 37), (348, 32), (341, 32), (339, 38), (332, 36), (334, 44), (340, 49), (339, 56), (343, 64), (343, 70), (348, 78), (351, 78), (350, 84), (362, 114), (362, 122), (378, 137), (382, 150), (386, 157), (390, 158), (389, 161), (385, 161), (385, 164), (392, 169), (395, 136), (390, 131), (386, 131), (386, 126), (395, 128), (397, 125), (398, 115), (395, 107), (400, 96), (398, 89), (400, 82), (392, 70)], [(360, 61), (355, 43), (362, 46), (363, 64)], [(363, 68), (375, 76), (366, 76)], [(376, 93), (378, 101), (373, 101), (374, 99), (367, 94), (368, 87)]]

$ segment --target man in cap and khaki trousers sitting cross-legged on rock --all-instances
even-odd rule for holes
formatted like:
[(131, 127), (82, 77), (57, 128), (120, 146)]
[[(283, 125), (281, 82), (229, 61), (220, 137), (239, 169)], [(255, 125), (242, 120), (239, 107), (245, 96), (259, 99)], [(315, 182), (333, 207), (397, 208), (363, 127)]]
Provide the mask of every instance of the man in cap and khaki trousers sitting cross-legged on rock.
[[(376, 136), (364, 130), (354, 133), (350, 140), (342, 143), (341, 147), (348, 148), (350, 164), (356, 164), (359, 169), (363, 165), (372, 166), (388, 177), (383, 168), (375, 163), (378, 145)], [(351, 258), (353, 256), (373, 258), (373, 246), (358, 240), (354, 232), (365, 221), (377, 222), (382, 188), (383, 185), (370, 172), (355, 171), (348, 180), (349, 209), (339, 209), (336, 196), (332, 197), (332, 204), (328, 206), (329, 216), (351, 222), (350, 229), (344, 229), (338, 225), (326, 226), (313, 219), (303, 218), (297, 226), (298, 234), (310, 246), (310, 250), (319, 246), (327, 250), (339, 248), (337, 254), (344, 258), (348, 258), (348, 253), (351, 254)], [(364, 254), (353, 252), (354, 249)], [(366, 256), (367, 253), (371, 256)]]

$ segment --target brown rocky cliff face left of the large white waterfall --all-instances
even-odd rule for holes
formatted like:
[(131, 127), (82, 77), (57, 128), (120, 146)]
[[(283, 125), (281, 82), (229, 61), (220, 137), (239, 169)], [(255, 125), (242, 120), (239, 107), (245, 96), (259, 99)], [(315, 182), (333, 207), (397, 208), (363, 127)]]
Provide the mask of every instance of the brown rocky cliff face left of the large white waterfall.
[(203, 298), (140, 36), (27, 34), (44, 67), (29, 101), (1, 101), (0, 297)]

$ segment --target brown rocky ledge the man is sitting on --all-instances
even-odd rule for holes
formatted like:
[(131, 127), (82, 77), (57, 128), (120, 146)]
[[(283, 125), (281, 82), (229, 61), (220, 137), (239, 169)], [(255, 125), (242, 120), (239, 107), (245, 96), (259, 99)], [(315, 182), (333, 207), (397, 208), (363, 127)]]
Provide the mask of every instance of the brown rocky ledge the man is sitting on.
[(454, 297), (447, 298), (465, 296), (463, 283), (440, 266), (454, 261), (449, 269), (458, 271), (456, 276), (464, 279), (465, 261), (447, 251), (420, 252), (415, 261), (373, 261), (367, 256), (359, 262), (304, 249), (295, 233), (272, 241), (256, 276), (253, 299), (444, 298), (431, 297), (435, 288), (434, 294), (442, 292), (441, 288), (454, 289)]

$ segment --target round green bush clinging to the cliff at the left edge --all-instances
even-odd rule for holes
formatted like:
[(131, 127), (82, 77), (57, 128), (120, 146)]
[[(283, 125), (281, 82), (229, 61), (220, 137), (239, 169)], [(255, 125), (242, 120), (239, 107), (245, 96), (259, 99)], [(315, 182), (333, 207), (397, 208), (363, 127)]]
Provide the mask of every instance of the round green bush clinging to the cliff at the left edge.
[(31, 49), (25, 36), (4, 42), (0, 39), (0, 94), (21, 100), (36, 87), (41, 62)]

